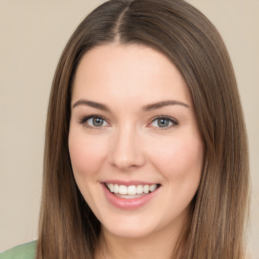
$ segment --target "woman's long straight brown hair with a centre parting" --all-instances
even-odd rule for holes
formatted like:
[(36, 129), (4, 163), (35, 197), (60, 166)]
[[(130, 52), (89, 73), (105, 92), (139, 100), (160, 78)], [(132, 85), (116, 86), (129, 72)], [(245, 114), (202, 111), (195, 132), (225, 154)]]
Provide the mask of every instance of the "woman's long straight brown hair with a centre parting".
[(76, 186), (69, 157), (70, 96), (85, 52), (114, 41), (166, 55), (183, 74), (193, 99), (205, 157), (179, 258), (243, 259), (249, 174), (237, 83), (217, 29), (183, 0), (105, 2), (68, 41), (49, 102), (37, 259), (90, 259), (97, 249), (100, 222)]

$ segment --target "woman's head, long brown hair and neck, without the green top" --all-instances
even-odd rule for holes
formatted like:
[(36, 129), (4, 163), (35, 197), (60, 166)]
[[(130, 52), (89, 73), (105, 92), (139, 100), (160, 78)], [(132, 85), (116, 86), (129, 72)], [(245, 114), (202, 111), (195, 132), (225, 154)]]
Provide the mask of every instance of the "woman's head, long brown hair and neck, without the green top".
[(244, 258), (247, 153), (213, 25), (181, 0), (108, 1), (53, 80), (36, 258)]

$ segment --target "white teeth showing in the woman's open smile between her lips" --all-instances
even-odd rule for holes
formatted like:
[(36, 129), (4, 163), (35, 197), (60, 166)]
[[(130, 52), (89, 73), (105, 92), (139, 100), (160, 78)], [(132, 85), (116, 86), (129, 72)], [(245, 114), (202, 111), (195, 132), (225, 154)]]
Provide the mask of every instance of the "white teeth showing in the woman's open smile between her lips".
[(157, 188), (160, 187), (160, 184), (152, 184), (152, 185), (118, 185), (105, 183), (107, 189), (113, 193), (115, 196), (124, 199), (134, 199), (144, 195), (147, 195)]

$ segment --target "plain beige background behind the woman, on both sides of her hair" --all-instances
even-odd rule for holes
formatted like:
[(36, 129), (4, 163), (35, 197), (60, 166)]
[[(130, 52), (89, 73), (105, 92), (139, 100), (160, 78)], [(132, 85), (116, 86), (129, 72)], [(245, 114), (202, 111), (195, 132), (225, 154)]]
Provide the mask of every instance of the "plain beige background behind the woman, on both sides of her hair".
[[(52, 78), (69, 36), (100, 2), (0, 1), (0, 251), (36, 239)], [(219, 29), (236, 71), (250, 141), (253, 188), (248, 242), (257, 259), (259, 1), (188, 2)]]

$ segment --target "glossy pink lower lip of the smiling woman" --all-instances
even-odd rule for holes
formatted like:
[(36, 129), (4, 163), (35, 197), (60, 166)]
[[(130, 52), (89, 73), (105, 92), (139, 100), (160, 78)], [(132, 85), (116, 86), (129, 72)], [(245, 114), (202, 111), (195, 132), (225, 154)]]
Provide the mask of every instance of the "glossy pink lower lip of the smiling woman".
[(158, 189), (155, 189), (153, 192), (140, 196), (138, 198), (133, 198), (133, 199), (125, 199), (125, 198), (120, 198), (115, 196), (113, 193), (111, 193), (105, 183), (102, 183), (102, 188), (104, 191), (104, 195), (107, 198), (107, 200), (116, 208), (120, 209), (137, 209), (142, 206), (144, 206), (146, 203), (148, 203), (151, 199), (154, 198), (154, 196), (157, 194)]

